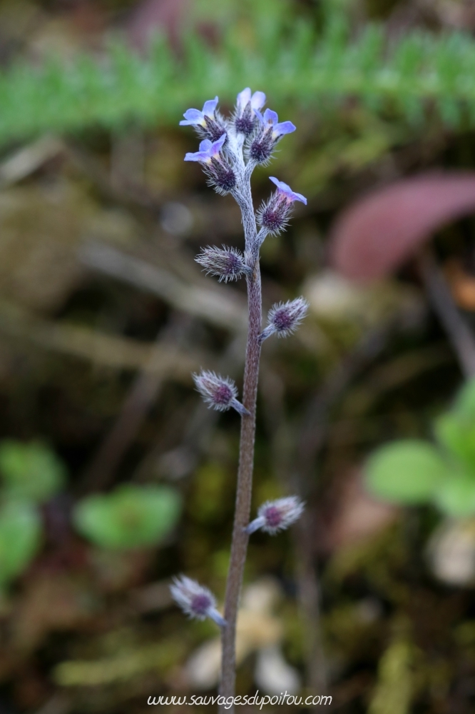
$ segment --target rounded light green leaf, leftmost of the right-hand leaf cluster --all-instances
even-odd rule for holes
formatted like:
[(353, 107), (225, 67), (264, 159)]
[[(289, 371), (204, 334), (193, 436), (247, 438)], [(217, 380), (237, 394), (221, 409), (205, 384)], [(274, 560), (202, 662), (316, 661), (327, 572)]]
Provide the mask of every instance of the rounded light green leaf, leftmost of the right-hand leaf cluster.
[(386, 444), (369, 457), (365, 481), (369, 491), (392, 503), (428, 501), (446, 474), (446, 464), (426, 441), (404, 439)]

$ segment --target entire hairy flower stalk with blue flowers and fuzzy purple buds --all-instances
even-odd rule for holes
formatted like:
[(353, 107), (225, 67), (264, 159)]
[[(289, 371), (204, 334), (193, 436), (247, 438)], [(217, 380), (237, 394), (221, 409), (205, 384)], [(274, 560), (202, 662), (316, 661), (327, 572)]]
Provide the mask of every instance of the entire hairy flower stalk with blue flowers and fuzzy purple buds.
[[(258, 164), (267, 164), (282, 137), (295, 131), (291, 121), (279, 122), (277, 114), (270, 109), (266, 109), (262, 115), (260, 109), (264, 104), (265, 94), (251, 94), (250, 89), (246, 88), (237, 95), (235, 112), (229, 119), (219, 114), (218, 97), (215, 97), (205, 102), (203, 110), (188, 109), (184, 114), (185, 120), (180, 122), (184, 126), (193, 126), (202, 139), (199, 151), (186, 154), (185, 161), (198, 161), (215, 191), (231, 193), (240, 207), (245, 234), (243, 255), (235, 248), (223, 246), (221, 250), (208, 246), (196, 258), (208, 274), (217, 276), (220, 281), (227, 282), (240, 277), (245, 277), (247, 281), (248, 331), (242, 402), (238, 401), (237, 388), (230, 378), (210, 371), (193, 375), (197, 390), (210, 408), (218, 411), (234, 408), (241, 418), (235, 516), (224, 617), (218, 613), (212, 593), (195, 581), (183, 576), (182, 580), (175, 580), (172, 586), (173, 597), (185, 613), (198, 618), (209, 617), (221, 628), (220, 695), (225, 698), (235, 694), (236, 622), (249, 535), (258, 528), (270, 534), (277, 533), (294, 523), (303, 509), (303, 504), (295, 496), (290, 496), (263, 504), (258, 518), (251, 524), (249, 522), (262, 342), (274, 333), (280, 337), (289, 335), (299, 326), (307, 312), (307, 303), (303, 298), (279, 303), (271, 309), (267, 327), (262, 331), (260, 246), (269, 233), (277, 234), (285, 229), (294, 201), (307, 203), (301, 193), (293, 192), (287, 183), (271, 177), (277, 191), (261, 206), (260, 211), (256, 213), (254, 210), (250, 186), (253, 169)], [(227, 711), (233, 714), (233, 709), (228, 708)]]

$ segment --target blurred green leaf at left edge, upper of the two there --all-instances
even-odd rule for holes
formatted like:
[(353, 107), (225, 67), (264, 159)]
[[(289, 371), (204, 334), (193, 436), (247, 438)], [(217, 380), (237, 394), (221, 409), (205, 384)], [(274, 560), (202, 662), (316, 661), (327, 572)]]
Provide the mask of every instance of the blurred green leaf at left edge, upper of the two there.
[(66, 478), (62, 461), (37, 441), (1, 441), (0, 471), (8, 496), (37, 503), (51, 498)]

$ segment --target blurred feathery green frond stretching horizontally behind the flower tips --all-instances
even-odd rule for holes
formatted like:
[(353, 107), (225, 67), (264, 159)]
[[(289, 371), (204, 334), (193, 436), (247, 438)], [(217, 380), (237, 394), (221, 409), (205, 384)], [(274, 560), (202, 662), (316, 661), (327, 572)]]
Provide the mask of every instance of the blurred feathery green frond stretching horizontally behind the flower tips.
[(157, 38), (146, 56), (118, 40), (98, 57), (51, 58), (43, 66), (16, 61), (0, 74), (0, 143), (88, 126), (176, 126), (189, 106), (215, 94), (233, 103), (249, 84), (264, 89), (277, 109), (315, 111), (351, 96), (416, 125), (428, 107), (451, 128), (474, 123), (471, 36), (412, 31), (388, 50), (382, 26), (369, 25), (353, 39), (335, 7), (322, 30), (290, 20), (282, 2), (261, 1), (250, 4), (247, 24), (223, 22), (214, 48), (190, 33), (180, 53)]

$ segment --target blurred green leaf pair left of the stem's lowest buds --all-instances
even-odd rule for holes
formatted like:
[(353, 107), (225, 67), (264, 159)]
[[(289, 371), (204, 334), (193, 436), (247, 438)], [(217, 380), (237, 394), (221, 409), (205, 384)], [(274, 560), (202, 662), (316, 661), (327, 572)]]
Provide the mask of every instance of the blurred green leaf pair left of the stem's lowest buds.
[(144, 548), (163, 540), (180, 515), (180, 496), (166, 486), (120, 486), (78, 503), (73, 521), (101, 548)]

